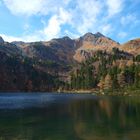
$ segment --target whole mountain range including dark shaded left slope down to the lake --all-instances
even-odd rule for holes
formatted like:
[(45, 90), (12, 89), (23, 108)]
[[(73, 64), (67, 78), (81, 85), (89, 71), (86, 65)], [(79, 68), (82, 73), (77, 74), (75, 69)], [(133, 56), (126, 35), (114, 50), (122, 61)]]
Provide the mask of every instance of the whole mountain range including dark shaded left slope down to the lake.
[[(81, 64), (90, 59), (97, 59), (92, 65), (97, 74), (99, 56), (105, 59), (117, 58), (116, 64), (112, 61), (111, 63), (119, 67), (129, 60), (129, 65), (132, 64), (133, 57), (139, 60), (139, 54), (140, 39), (119, 44), (99, 32), (87, 33), (77, 39), (64, 36), (50, 41), (27, 43), (8, 43), (1, 37), (0, 91), (56, 90), (63, 87), (66, 81), (70, 81), (73, 70), (79, 69)], [(124, 59), (123, 62), (120, 59)]]

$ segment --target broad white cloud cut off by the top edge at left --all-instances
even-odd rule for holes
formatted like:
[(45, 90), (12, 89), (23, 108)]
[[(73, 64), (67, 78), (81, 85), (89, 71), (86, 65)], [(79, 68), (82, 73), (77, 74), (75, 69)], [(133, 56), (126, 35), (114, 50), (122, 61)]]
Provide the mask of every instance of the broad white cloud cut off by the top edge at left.
[(70, 0), (3, 0), (4, 4), (14, 15), (31, 16), (55, 13)]

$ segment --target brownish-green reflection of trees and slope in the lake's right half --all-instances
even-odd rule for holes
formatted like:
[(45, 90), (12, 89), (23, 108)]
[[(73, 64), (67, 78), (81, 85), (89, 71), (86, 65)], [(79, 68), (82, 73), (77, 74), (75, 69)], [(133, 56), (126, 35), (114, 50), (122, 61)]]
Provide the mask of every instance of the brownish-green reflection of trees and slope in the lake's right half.
[(134, 136), (138, 139), (139, 105), (139, 99), (103, 98), (76, 101), (69, 109), (75, 122), (74, 130), (82, 140), (134, 139)]

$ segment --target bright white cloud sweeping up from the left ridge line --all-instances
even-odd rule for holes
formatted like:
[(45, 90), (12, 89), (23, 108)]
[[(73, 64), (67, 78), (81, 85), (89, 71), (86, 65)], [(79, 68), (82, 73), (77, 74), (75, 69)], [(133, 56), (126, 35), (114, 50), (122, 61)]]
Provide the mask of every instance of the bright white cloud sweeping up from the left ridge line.
[[(55, 37), (59, 37), (61, 32), (61, 26), (63, 24), (68, 24), (71, 22), (71, 14), (66, 10), (60, 8), (58, 15), (54, 15), (50, 18), (48, 25), (46, 25), (45, 21), (41, 21), (44, 24), (44, 28), (42, 30), (34, 31), (33, 33), (26, 34), (26, 29), (28, 30), (29, 25), (25, 24), (24, 29), (25, 33), (20, 37), (8, 36), (1, 34), (4, 40), (12, 42), (12, 41), (41, 41), (41, 40), (50, 40)], [(28, 33), (28, 32), (27, 32)]]

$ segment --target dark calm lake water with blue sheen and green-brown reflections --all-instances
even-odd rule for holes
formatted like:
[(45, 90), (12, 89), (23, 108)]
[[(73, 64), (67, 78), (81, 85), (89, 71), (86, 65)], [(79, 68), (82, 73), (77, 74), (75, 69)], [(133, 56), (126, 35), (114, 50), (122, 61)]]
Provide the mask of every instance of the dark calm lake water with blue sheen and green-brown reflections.
[(140, 140), (140, 97), (0, 94), (0, 140)]

